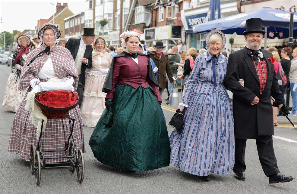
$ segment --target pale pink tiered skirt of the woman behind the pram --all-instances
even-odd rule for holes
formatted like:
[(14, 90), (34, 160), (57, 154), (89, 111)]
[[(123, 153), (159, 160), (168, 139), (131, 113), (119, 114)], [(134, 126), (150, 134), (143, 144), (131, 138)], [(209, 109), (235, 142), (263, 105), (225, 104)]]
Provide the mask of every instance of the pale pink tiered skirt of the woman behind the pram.
[(87, 75), (81, 117), (84, 126), (95, 127), (105, 109), (106, 93), (102, 92), (106, 75)]

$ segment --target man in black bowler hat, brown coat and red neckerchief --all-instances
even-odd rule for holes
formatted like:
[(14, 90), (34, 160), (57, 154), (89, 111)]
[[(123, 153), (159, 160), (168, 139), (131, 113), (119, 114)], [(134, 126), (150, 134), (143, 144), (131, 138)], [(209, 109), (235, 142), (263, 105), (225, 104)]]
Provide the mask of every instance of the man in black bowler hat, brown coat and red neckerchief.
[(150, 58), (153, 59), (154, 63), (158, 67), (158, 83), (160, 94), (162, 95), (164, 89), (166, 88), (166, 73), (168, 75), (168, 81), (172, 84), (176, 82), (172, 79), (173, 75), (169, 65), (168, 53), (163, 52), (163, 49), (166, 47), (163, 45), (162, 41), (157, 41), (156, 45), (153, 45), (155, 52), (150, 52)]

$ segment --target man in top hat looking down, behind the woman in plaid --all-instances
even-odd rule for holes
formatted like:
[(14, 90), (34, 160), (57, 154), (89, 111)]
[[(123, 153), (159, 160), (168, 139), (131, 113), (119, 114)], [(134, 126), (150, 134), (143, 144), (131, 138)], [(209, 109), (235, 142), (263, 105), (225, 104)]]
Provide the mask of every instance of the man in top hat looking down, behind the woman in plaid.
[(82, 38), (70, 38), (65, 46), (70, 51), (78, 72), (78, 86), (76, 91), (78, 93), (78, 105), (80, 107), (84, 93), (85, 71), (86, 68), (92, 67), (93, 48), (91, 44), (95, 36), (94, 28), (84, 28)]

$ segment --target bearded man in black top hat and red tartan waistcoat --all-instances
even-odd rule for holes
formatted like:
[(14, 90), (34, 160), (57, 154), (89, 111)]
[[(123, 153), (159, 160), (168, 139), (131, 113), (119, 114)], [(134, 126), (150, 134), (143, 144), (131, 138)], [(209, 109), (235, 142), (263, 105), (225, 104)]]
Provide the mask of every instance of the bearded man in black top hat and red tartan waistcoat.
[[(262, 20), (246, 20), (243, 32), (245, 48), (229, 55), (226, 84), (233, 93), (233, 116), (235, 132), (235, 178), (245, 180), (245, 145), (247, 139), (256, 139), (258, 156), (269, 183), (284, 183), (293, 180), (281, 174), (273, 149), (273, 111), (271, 96), (279, 109), (283, 96), (279, 90), (274, 71), (274, 59), (270, 51), (261, 49), (265, 31)], [(239, 79), (243, 79), (244, 86)], [(258, 179), (258, 177), (253, 177)]]

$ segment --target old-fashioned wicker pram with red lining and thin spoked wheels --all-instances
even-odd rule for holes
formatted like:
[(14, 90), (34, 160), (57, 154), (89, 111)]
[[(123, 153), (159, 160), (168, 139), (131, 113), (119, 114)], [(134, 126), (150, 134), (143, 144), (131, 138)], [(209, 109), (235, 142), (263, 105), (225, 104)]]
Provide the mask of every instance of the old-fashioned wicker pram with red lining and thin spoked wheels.
[[(59, 97), (59, 95), (63, 97)], [(58, 97), (58, 100), (57, 100)], [(69, 115), (69, 110), (74, 109), (78, 103), (78, 94), (75, 91), (56, 90), (42, 91), (35, 94), (35, 104), (40, 108), (43, 115), (48, 119), (68, 119), (70, 125), (70, 135), (65, 141), (65, 147), (62, 150), (43, 150), (41, 143), (42, 129), (44, 120), (42, 120), (41, 132), (37, 145), (31, 144), (30, 148), (30, 169), (31, 174), (35, 174), (36, 184), (39, 185), (41, 177), (41, 168), (70, 168), (71, 172), (76, 170), (77, 179), (80, 183), (84, 180), (84, 155), (81, 149), (76, 150), (74, 137), (72, 135), (75, 119)], [(60, 101), (59, 101), (60, 100)], [(62, 102), (61, 102), (62, 101)], [(70, 141), (70, 138), (72, 141)], [(45, 157), (45, 152), (65, 152), (62, 157)], [(49, 163), (49, 159), (68, 159), (67, 162)]]

